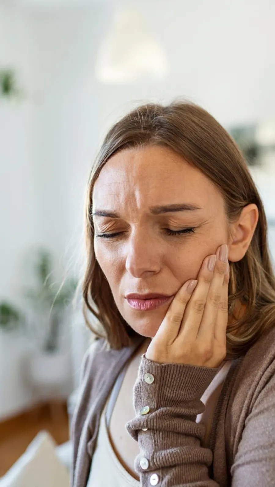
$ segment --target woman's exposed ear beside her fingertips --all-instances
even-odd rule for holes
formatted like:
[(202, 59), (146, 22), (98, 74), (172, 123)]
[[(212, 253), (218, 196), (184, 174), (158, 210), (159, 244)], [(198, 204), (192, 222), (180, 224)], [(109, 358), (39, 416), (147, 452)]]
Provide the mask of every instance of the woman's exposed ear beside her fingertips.
[(254, 235), (258, 219), (258, 207), (251, 203), (242, 209), (239, 218), (230, 225), (229, 261), (237, 262), (244, 257)]

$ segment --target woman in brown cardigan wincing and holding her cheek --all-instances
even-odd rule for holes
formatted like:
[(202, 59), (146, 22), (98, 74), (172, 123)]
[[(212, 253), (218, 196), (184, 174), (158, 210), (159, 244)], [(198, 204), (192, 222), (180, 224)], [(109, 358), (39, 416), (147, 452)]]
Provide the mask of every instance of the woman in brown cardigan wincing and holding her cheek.
[(190, 103), (133, 110), (103, 141), (85, 229), (84, 315), (101, 333), (72, 485), (272, 485), (275, 278), (230, 135)]

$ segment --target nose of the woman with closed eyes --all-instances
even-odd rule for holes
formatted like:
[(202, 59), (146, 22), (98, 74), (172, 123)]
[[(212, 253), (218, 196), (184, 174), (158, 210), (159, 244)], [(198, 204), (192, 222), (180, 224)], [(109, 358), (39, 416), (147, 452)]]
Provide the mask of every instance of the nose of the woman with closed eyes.
[(126, 270), (134, 277), (157, 274), (161, 268), (159, 246), (141, 229), (132, 232), (126, 244)]

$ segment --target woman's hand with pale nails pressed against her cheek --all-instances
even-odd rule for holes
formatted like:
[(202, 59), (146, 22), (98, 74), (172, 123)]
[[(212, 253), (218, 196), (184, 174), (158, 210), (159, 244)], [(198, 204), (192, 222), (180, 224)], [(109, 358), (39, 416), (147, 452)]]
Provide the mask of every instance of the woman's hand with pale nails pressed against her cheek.
[[(213, 270), (208, 268), (211, 257), (216, 257)], [(186, 281), (179, 289), (145, 357), (158, 363), (218, 367), (226, 356), (229, 275), (224, 244), (217, 248), (216, 255), (204, 259), (195, 291), (190, 294), (187, 289), (194, 280)]]

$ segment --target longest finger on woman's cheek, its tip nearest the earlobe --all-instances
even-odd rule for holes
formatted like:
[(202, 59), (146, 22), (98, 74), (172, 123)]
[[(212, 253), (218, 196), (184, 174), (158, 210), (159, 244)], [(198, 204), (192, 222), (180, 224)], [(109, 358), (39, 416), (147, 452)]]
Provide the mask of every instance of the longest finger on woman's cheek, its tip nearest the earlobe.
[(198, 340), (201, 340), (204, 344), (209, 343), (209, 345), (213, 343), (215, 338), (218, 310), (222, 297), (222, 285), (227, 271), (227, 260), (226, 262), (223, 262), (218, 259), (218, 250), (219, 249), (217, 249), (216, 252), (217, 259), (214, 268), (214, 276), (209, 286), (203, 316), (197, 334)]

